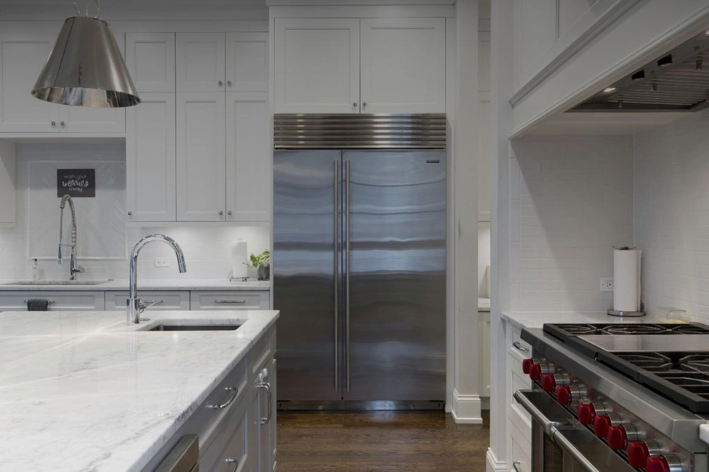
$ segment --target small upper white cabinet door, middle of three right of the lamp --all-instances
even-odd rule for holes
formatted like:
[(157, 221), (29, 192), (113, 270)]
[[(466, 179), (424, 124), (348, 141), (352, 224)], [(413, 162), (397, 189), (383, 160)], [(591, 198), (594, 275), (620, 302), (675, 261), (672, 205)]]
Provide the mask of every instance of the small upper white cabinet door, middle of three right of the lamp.
[(177, 91), (224, 91), (224, 33), (177, 33)]

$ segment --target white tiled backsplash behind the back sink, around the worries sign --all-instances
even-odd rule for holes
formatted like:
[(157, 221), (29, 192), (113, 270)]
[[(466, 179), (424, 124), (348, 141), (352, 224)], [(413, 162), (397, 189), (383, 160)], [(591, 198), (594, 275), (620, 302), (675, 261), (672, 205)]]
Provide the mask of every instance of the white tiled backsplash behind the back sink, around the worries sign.
[[(182, 247), (187, 274), (179, 274), (167, 245), (148, 245), (140, 252), (143, 279), (224, 279), (231, 271), (230, 245), (242, 238), (249, 252), (269, 247), (268, 227), (230, 225), (125, 225), (125, 146), (123, 144), (21, 144), (17, 146), (17, 223), (0, 228), (0, 279), (28, 279), (30, 257), (40, 257), (45, 279), (66, 279), (67, 263), (56, 262), (59, 238), (59, 202), (56, 174), (59, 168), (96, 169), (96, 197), (75, 198), (79, 264), (83, 279), (127, 279), (130, 249), (140, 237), (160, 232)], [(69, 242), (70, 216), (65, 210), (65, 243)], [(65, 251), (68, 259), (68, 249)], [(91, 257), (91, 260), (85, 259)], [(171, 266), (155, 268), (155, 257), (170, 257)], [(255, 274), (254, 274), (255, 275)]]

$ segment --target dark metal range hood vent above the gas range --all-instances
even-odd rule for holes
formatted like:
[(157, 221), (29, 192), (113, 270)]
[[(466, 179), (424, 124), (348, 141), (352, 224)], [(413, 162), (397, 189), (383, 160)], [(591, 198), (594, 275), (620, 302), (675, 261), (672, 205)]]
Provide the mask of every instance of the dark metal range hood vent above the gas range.
[(570, 111), (699, 111), (708, 99), (709, 35), (702, 33)]

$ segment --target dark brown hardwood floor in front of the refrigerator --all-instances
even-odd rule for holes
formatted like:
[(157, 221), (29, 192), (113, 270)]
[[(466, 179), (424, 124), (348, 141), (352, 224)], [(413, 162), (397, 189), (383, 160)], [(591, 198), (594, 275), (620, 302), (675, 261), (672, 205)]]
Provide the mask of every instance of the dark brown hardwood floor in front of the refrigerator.
[(278, 412), (278, 472), (484, 471), (490, 418), (443, 412)]

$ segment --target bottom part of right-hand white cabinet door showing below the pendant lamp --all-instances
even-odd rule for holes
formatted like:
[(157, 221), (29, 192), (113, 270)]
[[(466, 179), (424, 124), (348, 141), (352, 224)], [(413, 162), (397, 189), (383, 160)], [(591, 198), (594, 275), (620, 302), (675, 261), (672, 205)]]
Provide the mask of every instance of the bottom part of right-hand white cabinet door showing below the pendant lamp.
[(57, 106), (61, 133), (125, 133), (125, 108)]

